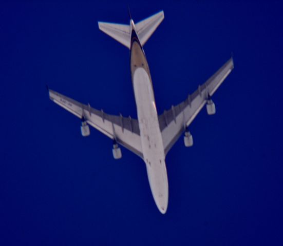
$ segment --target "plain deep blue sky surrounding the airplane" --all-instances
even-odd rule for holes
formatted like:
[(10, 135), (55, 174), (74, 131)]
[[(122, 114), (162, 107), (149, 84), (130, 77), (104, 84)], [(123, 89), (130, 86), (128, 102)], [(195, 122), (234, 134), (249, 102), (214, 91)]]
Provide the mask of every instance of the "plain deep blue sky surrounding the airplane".
[[(144, 46), (159, 113), (234, 53), (235, 69), (166, 157), (162, 215), (144, 162), (48, 98), (137, 117), (129, 51), (97, 21), (164, 10)], [(0, 4), (0, 245), (283, 245), (280, 1)]]

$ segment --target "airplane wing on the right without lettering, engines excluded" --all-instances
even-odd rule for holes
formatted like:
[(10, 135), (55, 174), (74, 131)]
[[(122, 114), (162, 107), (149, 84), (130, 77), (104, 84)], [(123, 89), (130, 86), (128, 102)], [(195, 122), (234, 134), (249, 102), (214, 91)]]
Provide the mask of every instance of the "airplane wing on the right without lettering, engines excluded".
[(158, 116), (165, 155), (234, 68), (231, 57), (213, 76), (182, 103)]

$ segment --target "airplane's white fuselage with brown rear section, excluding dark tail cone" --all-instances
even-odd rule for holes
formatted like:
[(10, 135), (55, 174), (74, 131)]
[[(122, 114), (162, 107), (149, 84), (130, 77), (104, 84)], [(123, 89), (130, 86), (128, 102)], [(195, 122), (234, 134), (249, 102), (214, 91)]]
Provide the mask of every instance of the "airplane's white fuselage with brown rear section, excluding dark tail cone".
[(130, 66), (148, 181), (155, 203), (164, 214), (168, 205), (164, 147), (147, 61), (142, 48), (136, 41), (131, 47)]

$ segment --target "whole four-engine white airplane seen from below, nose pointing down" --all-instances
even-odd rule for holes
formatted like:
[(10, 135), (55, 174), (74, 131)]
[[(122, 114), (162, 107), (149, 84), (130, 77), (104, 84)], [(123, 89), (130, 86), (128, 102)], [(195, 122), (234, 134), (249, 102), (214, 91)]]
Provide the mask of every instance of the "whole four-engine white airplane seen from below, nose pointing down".
[(49, 97), (54, 103), (82, 119), (81, 134), (90, 134), (89, 126), (96, 128), (113, 140), (112, 154), (122, 157), (125, 147), (145, 162), (149, 186), (156, 206), (165, 214), (168, 206), (168, 180), (165, 157), (184, 132), (185, 147), (193, 146), (193, 137), (188, 126), (206, 105), (207, 114), (215, 114), (211, 96), (234, 68), (231, 57), (213, 76), (197, 90), (188, 94), (180, 104), (172, 106), (160, 115), (157, 113), (155, 97), (144, 44), (164, 19), (160, 11), (137, 24), (130, 16), (129, 25), (98, 22), (99, 29), (116, 39), (130, 50), (130, 71), (134, 87), (138, 119), (110, 115), (66, 97), (53, 90)]

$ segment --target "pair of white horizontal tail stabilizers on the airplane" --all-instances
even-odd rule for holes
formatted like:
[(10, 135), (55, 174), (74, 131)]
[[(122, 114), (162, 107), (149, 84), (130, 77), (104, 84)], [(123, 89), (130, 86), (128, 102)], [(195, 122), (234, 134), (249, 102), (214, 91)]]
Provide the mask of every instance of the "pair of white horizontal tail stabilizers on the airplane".
[[(156, 28), (164, 19), (164, 12), (160, 11), (136, 24), (136, 32), (143, 46), (148, 38), (154, 33)], [(112, 38), (116, 39), (122, 45), (130, 49), (131, 25), (122, 25), (114, 23), (99, 22), (99, 29)]]

